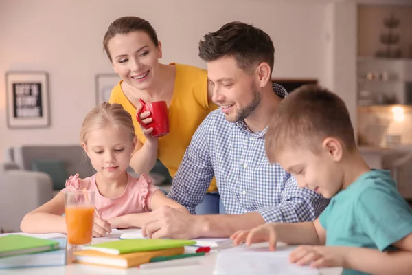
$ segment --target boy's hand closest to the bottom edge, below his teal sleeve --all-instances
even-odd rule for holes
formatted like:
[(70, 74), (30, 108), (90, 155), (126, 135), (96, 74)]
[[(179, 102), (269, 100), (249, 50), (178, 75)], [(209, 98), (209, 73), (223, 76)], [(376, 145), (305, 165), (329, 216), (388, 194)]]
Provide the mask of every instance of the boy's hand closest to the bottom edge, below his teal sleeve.
[(345, 267), (349, 247), (301, 245), (289, 255), (289, 261), (310, 267)]

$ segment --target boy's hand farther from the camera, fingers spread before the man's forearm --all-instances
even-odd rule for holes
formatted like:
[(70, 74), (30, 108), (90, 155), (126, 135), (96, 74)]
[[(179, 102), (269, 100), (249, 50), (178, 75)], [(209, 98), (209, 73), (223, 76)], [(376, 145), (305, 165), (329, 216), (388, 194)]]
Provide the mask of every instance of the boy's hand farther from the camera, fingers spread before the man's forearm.
[(240, 243), (246, 243), (246, 245), (251, 245), (252, 243), (264, 243), (269, 242), (269, 249), (275, 250), (277, 237), (276, 229), (273, 224), (260, 225), (252, 230), (240, 230), (235, 234), (230, 236), (235, 245), (240, 245)]

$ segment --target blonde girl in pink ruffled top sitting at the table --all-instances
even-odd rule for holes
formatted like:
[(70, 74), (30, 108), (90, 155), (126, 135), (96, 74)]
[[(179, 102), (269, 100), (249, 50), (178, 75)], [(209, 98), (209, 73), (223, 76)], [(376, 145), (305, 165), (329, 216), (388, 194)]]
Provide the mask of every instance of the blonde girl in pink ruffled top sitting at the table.
[(137, 137), (130, 114), (119, 104), (102, 103), (84, 119), (80, 141), (91, 160), (95, 175), (69, 177), (66, 187), (52, 200), (29, 212), (20, 228), (27, 233), (66, 233), (65, 196), (73, 190), (95, 191), (93, 236), (104, 236), (111, 228), (141, 227), (148, 212), (170, 206), (186, 208), (158, 190), (147, 175), (130, 176), (126, 169), (135, 150)]

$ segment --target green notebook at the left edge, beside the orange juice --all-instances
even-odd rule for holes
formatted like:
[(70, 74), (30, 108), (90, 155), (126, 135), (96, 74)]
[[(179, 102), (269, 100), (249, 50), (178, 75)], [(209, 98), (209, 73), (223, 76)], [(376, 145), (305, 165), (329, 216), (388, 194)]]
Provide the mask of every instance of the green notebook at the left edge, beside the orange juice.
[(18, 234), (0, 236), (0, 257), (57, 250), (58, 246), (58, 241), (38, 239), (32, 236)]

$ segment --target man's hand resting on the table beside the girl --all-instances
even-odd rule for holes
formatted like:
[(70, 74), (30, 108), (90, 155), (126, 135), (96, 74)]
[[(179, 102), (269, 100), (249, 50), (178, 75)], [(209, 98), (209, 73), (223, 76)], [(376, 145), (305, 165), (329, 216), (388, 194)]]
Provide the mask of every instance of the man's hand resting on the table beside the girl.
[(195, 222), (193, 215), (163, 206), (150, 212), (141, 232), (150, 239), (195, 239), (200, 235), (196, 232)]

